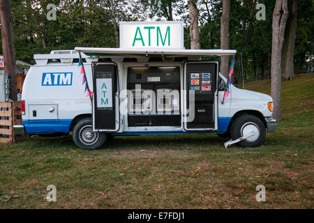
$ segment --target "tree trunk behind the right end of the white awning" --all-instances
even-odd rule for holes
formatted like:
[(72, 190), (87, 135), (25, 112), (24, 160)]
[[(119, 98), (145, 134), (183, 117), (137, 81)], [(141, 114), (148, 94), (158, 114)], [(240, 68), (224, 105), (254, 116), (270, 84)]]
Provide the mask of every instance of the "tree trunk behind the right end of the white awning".
[[(223, 0), (223, 15), (220, 17), (220, 48), (229, 49), (230, 0)], [(220, 72), (228, 78), (229, 56), (221, 56)]]

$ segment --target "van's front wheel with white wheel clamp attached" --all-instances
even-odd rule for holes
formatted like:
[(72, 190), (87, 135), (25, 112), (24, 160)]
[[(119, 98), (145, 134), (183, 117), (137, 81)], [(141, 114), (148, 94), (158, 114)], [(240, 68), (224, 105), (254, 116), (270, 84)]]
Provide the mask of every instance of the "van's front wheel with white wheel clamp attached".
[(266, 128), (264, 123), (257, 116), (244, 115), (239, 116), (234, 123), (232, 123), (230, 133), (233, 140), (243, 137), (245, 132), (254, 131), (252, 137), (248, 137), (237, 144), (242, 147), (257, 147), (264, 143), (266, 136)]

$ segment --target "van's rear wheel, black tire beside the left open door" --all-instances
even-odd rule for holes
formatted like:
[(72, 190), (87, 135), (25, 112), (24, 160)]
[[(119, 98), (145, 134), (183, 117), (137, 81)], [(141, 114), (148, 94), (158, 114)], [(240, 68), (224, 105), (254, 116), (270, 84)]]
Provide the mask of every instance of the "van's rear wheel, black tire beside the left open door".
[(107, 134), (92, 131), (91, 118), (84, 118), (73, 128), (73, 141), (78, 148), (94, 150), (101, 148), (107, 140)]

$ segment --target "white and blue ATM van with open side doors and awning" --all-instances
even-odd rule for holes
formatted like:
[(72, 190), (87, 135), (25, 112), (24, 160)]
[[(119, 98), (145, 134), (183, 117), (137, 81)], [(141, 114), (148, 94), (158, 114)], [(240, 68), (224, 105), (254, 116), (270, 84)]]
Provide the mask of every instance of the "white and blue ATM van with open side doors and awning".
[[(80, 54), (91, 97), (85, 91)], [(230, 86), (222, 49), (85, 48), (34, 55), (22, 90), (27, 134), (68, 134), (79, 148), (102, 148), (112, 136), (215, 133), (239, 146), (260, 146), (274, 132), (269, 95)], [(104, 85), (105, 84), (105, 85)], [(104, 89), (105, 87), (105, 89)], [(104, 91), (105, 90), (105, 91)]]

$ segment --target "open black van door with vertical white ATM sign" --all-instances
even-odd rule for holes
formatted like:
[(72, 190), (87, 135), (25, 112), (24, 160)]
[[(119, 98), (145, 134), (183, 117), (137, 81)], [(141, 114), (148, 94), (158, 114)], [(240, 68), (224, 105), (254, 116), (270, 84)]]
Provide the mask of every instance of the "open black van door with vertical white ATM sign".
[(93, 130), (117, 132), (119, 117), (119, 79), (115, 63), (93, 63)]

